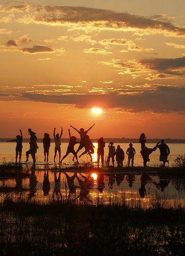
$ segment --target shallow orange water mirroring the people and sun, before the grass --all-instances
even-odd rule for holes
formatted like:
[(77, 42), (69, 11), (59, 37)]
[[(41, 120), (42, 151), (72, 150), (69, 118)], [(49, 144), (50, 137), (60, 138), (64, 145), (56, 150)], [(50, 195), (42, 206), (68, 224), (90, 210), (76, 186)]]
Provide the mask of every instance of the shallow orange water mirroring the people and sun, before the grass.
[(0, 201), (8, 196), (14, 201), (25, 199), (38, 203), (70, 200), (95, 205), (124, 202), (129, 207), (151, 207), (156, 203), (165, 208), (185, 206), (184, 177), (133, 175), (131, 172), (128, 175), (54, 173), (34, 169), (28, 174), (31, 174), (28, 178), (1, 179)]

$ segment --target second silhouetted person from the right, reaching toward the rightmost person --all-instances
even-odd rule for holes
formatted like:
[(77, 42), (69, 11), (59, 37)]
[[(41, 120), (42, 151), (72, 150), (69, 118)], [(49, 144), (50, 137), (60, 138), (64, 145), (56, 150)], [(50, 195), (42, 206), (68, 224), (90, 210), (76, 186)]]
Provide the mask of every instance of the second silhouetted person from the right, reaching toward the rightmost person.
[(149, 155), (153, 152), (156, 151), (156, 147), (154, 146), (153, 148), (148, 148), (145, 143), (146, 143), (147, 137), (145, 136), (144, 133), (141, 134), (139, 142), (141, 143), (141, 155), (143, 157), (143, 166), (147, 166), (147, 162), (150, 161)]

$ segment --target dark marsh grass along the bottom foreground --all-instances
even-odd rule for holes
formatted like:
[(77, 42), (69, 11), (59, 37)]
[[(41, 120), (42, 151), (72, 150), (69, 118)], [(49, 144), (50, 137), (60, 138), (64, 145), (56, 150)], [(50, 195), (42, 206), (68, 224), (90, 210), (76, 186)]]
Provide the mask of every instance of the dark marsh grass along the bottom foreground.
[(1, 255), (184, 255), (180, 206), (1, 204)]

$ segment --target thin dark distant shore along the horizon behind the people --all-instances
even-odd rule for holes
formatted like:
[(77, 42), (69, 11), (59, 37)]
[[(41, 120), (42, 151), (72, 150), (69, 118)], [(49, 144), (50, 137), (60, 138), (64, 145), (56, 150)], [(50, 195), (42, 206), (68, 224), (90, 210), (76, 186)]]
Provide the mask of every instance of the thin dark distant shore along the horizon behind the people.
[[(12, 140), (15, 138), (0, 138), (0, 142), (6, 142), (7, 140)], [(157, 143), (161, 139), (165, 140), (165, 143), (180, 143), (183, 144), (185, 143), (185, 139), (170, 139), (170, 138), (156, 138), (156, 139), (148, 139), (147, 138), (147, 143)], [(80, 140), (80, 139), (79, 139)], [(97, 142), (99, 138), (97, 139), (91, 139), (92, 142)], [(30, 138), (25, 138), (23, 139), (23, 142), (29, 142)], [(68, 138), (61, 138), (61, 142), (63, 143), (68, 143), (69, 139)], [(136, 139), (131, 139), (131, 138), (104, 138), (104, 141), (106, 143), (109, 143), (110, 141), (113, 141), (114, 143), (138, 143), (138, 138)], [(37, 142), (42, 142), (42, 138), (37, 138)], [(54, 142), (54, 139), (51, 138), (51, 142)]]

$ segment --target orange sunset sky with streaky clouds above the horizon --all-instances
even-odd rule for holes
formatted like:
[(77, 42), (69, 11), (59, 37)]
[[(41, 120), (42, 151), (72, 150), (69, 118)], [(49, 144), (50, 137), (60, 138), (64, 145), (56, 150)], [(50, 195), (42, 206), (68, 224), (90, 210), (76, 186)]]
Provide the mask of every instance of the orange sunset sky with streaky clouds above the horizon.
[(1, 1), (0, 137), (62, 126), (66, 138), (70, 124), (95, 122), (91, 138), (184, 139), (184, 10), (184, 0)]

